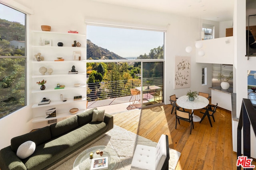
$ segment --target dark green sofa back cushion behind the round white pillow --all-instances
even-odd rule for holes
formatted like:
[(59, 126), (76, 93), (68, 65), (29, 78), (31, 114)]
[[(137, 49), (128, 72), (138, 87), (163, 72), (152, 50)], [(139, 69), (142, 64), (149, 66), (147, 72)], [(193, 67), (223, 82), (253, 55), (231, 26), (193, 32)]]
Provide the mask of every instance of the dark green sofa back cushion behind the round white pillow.
[(36, 131), (26, 133), (24, 135), (20, 135), (18, 137), (14, 137), (11, 139), (11, 148), (16, 153), (18, 147), (26, 142), (26, 141), (33, 141), (36, 143), (36, 146), (45, 143), (47, 141), (50, 141), (52, 139), (51, 137), (51, 131), (50, 127), (46, 126), (43, 128), (40, 128)]

